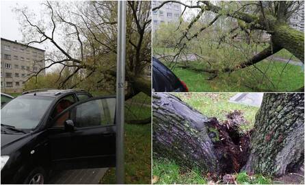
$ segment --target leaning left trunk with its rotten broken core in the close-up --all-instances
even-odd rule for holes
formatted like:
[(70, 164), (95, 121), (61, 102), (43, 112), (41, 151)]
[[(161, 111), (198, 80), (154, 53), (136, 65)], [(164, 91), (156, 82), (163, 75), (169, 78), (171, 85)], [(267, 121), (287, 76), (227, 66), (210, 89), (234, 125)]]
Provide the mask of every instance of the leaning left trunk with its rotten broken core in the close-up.
[(246, 134), (239, 136), (238, 123), (219, 124), (174, 95), (154, 93), (152, 97), (155, 155), (216, 175), (239, 171), (246, 164), (249, 140)]

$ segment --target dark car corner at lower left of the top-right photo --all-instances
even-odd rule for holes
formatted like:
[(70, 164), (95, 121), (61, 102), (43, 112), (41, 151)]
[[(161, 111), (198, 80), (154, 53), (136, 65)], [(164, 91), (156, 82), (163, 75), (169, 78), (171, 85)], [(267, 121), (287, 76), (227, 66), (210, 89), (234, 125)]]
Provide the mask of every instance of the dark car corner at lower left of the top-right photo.
[(167, 66), (152, 58), (152, 89), (155, 92), (188, 92), (187, 85)]

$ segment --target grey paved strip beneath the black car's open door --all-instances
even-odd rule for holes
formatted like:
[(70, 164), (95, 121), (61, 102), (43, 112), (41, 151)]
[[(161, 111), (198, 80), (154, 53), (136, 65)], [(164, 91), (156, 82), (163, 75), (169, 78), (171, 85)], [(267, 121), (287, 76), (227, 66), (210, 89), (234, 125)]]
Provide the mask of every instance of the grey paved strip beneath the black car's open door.
[(107, 168), (54, 171), (47, 184), (99, 184)]

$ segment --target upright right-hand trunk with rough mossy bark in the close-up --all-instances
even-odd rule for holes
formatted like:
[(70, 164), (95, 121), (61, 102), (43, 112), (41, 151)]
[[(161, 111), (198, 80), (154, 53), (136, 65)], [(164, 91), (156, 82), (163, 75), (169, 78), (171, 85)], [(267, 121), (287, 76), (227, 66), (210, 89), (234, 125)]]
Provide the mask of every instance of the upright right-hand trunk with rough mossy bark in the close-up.
[(304, 94), (265, 94), (243, 170), (280, 176), (304, 163)]

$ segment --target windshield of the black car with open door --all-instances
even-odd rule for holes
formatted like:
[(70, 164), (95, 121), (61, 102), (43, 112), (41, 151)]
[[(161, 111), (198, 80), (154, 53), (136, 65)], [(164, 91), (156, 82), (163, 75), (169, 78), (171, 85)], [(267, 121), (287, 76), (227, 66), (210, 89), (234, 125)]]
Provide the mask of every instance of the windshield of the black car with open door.
[(18, 129), (34, 129), (53, 99), (36, 96), (17, 97), (1, 109), (1, 123)]

